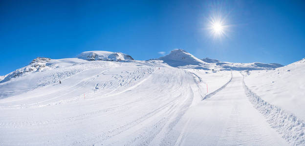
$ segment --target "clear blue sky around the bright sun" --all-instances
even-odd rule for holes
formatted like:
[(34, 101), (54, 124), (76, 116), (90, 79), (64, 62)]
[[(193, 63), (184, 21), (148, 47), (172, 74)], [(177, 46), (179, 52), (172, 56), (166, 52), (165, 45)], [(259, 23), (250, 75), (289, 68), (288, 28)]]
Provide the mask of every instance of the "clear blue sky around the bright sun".
[[(225, 16), (226, 37), (208, 18)], [(304, 0), (0, 0), (0, 75), (37, 56), (123, 52), (137, 60), (175, 48), (198, 58), (283, 65), (305, 57)]]

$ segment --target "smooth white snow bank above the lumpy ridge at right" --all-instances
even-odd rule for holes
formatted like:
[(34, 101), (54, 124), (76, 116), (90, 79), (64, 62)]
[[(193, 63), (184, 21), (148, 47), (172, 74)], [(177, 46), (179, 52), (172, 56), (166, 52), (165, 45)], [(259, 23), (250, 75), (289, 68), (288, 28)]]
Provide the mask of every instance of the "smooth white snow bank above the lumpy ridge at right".
[(250, 71), (245, 84), (263, 100), (305, 120), (305, 59), (269, 71)]

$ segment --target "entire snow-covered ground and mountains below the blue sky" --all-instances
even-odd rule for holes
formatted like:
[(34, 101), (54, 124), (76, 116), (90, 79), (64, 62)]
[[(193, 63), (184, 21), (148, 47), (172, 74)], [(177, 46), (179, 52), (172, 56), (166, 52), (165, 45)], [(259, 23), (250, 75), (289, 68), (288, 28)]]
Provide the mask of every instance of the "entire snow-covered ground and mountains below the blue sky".
[(149, 61), (100, 53), (33, 60), (2, 80), (0, 146), (305, 145), (305, 59), (238, 72), (183, 50)]

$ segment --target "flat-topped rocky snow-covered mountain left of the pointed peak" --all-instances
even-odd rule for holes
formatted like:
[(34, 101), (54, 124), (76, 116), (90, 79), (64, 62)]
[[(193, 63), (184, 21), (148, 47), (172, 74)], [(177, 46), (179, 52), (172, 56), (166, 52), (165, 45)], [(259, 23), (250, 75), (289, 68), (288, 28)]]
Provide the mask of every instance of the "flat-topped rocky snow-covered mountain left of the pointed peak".
[(125, 61), (133, 60), (131, 55), (123, 54), (120, 52), (108, 52), (108, 51), (87, 51), (77, 56), (80, 59), (85, 60), (104, 60), (104, 61)]

